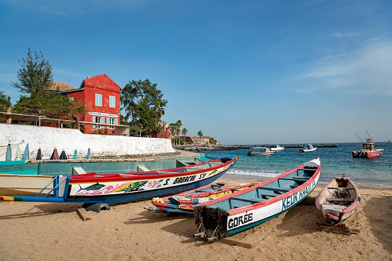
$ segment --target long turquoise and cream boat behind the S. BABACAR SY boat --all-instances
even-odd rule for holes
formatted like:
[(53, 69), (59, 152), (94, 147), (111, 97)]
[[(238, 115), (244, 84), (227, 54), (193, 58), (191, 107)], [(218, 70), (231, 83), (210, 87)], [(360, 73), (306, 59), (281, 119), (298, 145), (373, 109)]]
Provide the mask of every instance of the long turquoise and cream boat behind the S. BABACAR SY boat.
[[(58, 175), (142, 172), (191, 166), (210, 160), (203, 155), (195, 155), (116, 160), (0, 161), (0, 195), (35, 195)], [(46, 192), (50, 190), (48, 188)]]

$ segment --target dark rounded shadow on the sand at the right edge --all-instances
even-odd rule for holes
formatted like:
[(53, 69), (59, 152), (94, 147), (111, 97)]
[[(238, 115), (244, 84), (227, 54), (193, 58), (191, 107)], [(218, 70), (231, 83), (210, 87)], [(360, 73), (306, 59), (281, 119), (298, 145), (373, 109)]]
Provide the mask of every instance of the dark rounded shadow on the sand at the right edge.
[(363, 205), (362, 212), (374, 238), (392, 252), (392, 197), (372, 197)]

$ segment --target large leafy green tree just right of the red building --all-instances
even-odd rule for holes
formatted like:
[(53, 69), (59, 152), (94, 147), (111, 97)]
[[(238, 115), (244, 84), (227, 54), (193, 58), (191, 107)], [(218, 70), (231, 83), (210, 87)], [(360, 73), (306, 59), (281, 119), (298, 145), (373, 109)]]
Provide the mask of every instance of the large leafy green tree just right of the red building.
[(160, 119), (164, 115), (167, 100), (149, 79), (132, 80), (121, 90), (120, 101), (125, 110), (124, 121), (140, 130), (159, 131)]

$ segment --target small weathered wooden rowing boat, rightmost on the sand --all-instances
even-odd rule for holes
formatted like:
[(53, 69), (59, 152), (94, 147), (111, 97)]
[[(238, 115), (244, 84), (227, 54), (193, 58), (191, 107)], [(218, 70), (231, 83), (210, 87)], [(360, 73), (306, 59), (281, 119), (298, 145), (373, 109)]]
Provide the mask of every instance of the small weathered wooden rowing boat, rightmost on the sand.
[(332, 224), (350, 217), (361, 201), (358, 188), (350, 178), (334, 178), (316, 198), (317, 209)]

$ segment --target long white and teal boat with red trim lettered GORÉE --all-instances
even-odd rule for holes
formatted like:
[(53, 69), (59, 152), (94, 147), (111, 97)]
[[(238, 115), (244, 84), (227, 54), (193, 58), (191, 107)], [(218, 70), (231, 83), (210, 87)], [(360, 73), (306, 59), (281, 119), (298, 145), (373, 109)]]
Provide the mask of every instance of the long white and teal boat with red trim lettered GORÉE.
[(279, 216), (313, 191), (320, 169), (318, 157), (233, 195), (195, 206), (198, 231), (194, 236), (216, 241)]

